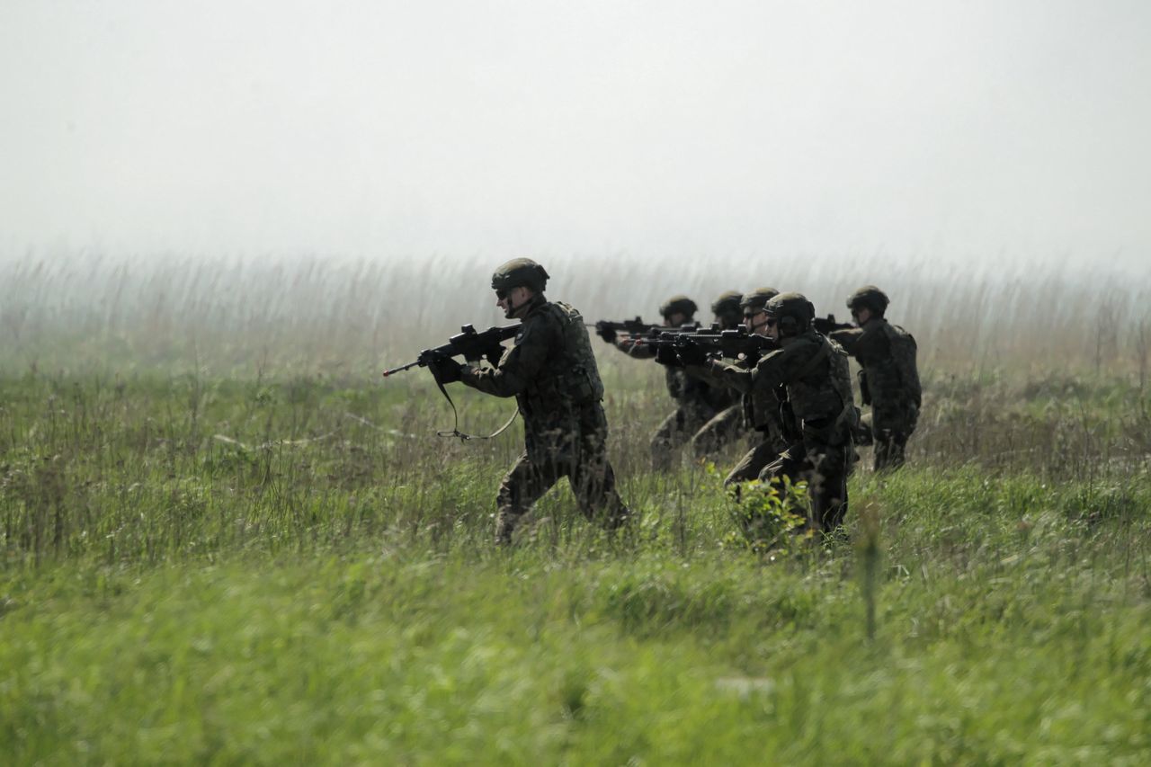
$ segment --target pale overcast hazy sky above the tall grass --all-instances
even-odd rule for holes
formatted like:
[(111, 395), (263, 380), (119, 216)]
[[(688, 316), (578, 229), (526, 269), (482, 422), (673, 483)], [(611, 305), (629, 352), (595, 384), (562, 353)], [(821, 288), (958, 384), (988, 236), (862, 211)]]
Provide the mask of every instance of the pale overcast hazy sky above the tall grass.
[(1151, 3), (2, 0), (0, 246), (1138, 264)]

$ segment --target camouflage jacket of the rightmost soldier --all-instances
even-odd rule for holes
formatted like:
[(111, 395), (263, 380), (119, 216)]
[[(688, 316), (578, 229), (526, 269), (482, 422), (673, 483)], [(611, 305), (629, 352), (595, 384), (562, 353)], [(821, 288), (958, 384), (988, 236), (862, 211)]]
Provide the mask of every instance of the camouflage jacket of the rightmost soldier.
[(831, 339), (860, 363), (863, 404), (878, 410), (918, 411), (922, 405), (916, 344), (910, 333), (882, 317), (863, 327), (833, 331)]

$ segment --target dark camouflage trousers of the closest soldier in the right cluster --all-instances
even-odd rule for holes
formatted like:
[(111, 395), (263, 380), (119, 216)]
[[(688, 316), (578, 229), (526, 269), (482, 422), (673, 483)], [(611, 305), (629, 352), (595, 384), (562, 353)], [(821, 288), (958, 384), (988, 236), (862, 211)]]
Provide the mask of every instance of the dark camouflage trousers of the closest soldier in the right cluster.
[(847, 474), (854, 448), (844, 445), (796, 442), (764, 466), (760, 479), (770, 481), (786, 477), (791, 483), (806, 481), (811, 499), (811, 525), (831, 531), (847, 514)]

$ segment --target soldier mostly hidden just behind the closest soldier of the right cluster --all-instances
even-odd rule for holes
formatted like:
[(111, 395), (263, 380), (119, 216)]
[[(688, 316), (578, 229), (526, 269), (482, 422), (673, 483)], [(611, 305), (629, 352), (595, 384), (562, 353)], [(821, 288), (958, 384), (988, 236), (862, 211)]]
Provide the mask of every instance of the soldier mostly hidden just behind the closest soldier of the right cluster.
[[(767, 335), (767, 316), (764, 305), (779, 291), (775, 288), (756, 288), (742, 296), (737, 304), (740, 319), (748, 333)], [(726, 326), (725, 326), (726, 329)], [(737, 360), (737, 366), (750, 370), (752, 364), (746, 360)], [(731, 381), (724, 375), (717, 375), (708, 367), (687, 367), (689, 375), (702, 377), (712, 386), (727, 387), (730, 390), (740, 394), (740, 401), (719, 412), (708, 424), (700, 430), (694, 438), (699, 440), (708, 431), (715, 431), (730, 443), (744, 434), (752, 436), (750, 449), (735, 464), (731, 473), (724, 480), (724, 486), (732, 486), (737, 483), (755, 479), (760, 471), (768, 463), (775, 461), (786, 445), (783, 443), (782, 428), (779, 424), (779, 400), (775, 392), (740, 392), (733, 388)]]

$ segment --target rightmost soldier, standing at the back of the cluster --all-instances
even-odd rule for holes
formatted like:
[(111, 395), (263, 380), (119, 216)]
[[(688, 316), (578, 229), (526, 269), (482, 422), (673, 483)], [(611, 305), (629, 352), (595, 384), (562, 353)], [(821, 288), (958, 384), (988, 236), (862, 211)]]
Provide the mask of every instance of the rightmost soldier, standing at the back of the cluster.
[(860, 288), (847, 299), (859, 327), (829, 334), (861, 366), (860, 394), (871, 412), (863, 417), (859, 436), (862, 443), (875, 445), (876, 471), (904, 465), (922, 405), (915, 339), (884, 318), (887, 303), (879, 288)]

